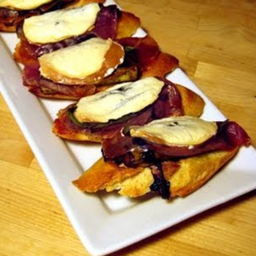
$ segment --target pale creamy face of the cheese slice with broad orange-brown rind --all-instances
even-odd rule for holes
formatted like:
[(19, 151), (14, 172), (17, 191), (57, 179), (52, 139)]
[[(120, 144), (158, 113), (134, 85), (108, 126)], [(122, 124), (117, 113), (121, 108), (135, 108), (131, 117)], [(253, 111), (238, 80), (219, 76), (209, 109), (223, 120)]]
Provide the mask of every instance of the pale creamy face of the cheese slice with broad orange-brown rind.
[(91, 38), (83, 43), (44, 54), (38, 58), (41, 75), (50, 79), (47, 72), (50, 67), (63, 76), (83, 79), (100, 70), (111, 44), (111, 39)]

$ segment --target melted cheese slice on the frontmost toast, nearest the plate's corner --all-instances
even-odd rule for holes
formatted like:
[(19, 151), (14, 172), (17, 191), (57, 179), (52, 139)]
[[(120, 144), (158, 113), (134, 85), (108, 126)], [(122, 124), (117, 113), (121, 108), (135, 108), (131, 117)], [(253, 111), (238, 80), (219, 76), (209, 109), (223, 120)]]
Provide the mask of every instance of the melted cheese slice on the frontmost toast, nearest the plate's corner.
[(169, 146), (193, 146), (203, 143), (216, 134), (215, 122), (192, 116), (173, 116), (130, 127), (132, 137), (141, 137), (153, 143)]

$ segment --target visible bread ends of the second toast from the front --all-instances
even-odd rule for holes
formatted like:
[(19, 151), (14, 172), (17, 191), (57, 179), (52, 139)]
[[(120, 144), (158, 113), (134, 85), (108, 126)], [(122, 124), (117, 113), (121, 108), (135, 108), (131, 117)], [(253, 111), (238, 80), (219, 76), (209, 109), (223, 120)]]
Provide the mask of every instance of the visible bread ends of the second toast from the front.
[[(177, 88), (180, 92), (184, 115), (201, 116), (205, 105), (201, 96), (181, 85), (177, 85)], [(67, 140), (101, 142), (102, 138), (99, 135), (88, 134), (79, 127), (76, 129), (68, 128), (69, 126), (65, 125), (66, 112), (67, 108), (59, 111), (58, 119), (55, 120), (52, 126), (53, 133)]]

